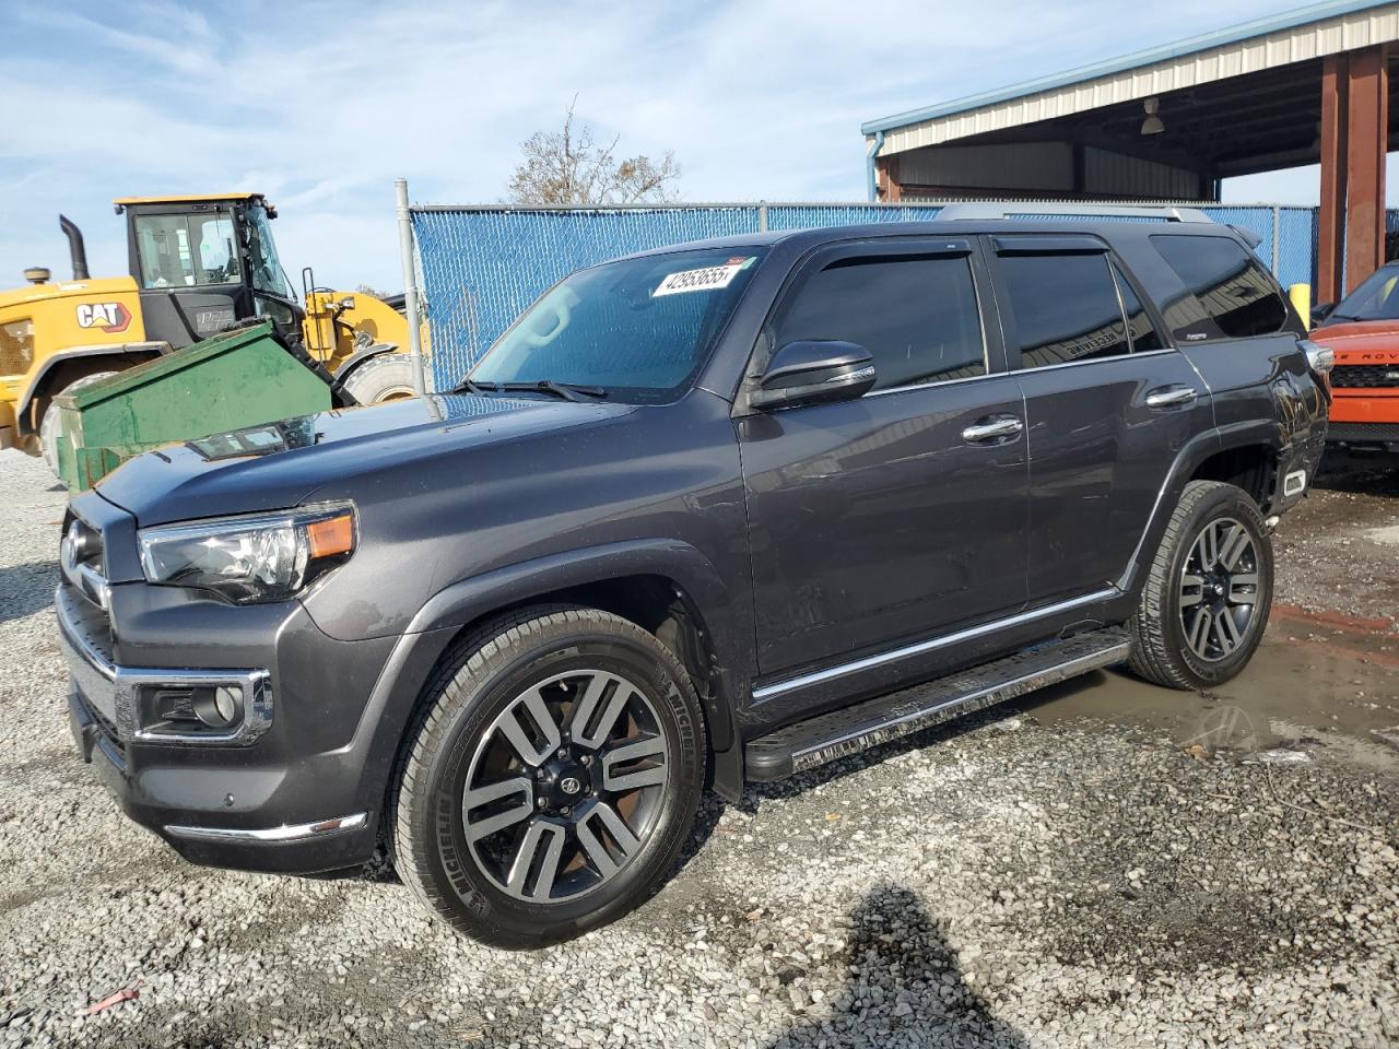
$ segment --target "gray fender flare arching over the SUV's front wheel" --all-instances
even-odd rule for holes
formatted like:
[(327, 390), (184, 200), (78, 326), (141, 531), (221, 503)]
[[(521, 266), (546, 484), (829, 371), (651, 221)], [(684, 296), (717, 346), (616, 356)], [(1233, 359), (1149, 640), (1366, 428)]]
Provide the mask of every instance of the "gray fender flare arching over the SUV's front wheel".
[(522, 561), (452, 583), (438, 590), (413, 617), (389, 653), (357, 736), (374, 737), (371, 754), (395, 754), (438, 659), (460, 629), (498, 608), (588, 583), (625, 575), (656, 575), (672, 580), (697, 625), (705, 631), (718, 660), (715, 688), (702, 698), (709, 743), (716, 754), (741, 752), (736, 732), (737, 681), (746, 681), (741, 634), (729, 587), (695, 547), (667, 538), (628, 540), (583, 547)]

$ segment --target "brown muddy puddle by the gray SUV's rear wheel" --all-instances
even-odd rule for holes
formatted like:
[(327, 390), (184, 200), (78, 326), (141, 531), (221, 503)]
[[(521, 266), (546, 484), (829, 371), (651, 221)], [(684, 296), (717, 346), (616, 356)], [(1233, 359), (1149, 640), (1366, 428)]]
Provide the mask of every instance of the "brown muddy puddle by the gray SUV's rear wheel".
[(1042, 725), (1137, 727), (1240, 757), (1288, 747), (1399, 775), (1399, 634), (1386, 621), (1279, 607), (1249, 667), (1213, 692), (1107, 671), (1014, 706), (1007, 713)]

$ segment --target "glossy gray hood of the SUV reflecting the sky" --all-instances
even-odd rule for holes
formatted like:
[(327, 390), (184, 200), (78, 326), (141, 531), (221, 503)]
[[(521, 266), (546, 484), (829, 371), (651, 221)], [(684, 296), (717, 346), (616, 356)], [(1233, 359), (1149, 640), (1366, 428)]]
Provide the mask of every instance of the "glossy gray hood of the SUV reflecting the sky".
[(306, 502), (330, 481), (544, 432), (595, 425), (627, 404), (428, 396), (266, 422), (147, 452), (97, 492), (141, 526)]

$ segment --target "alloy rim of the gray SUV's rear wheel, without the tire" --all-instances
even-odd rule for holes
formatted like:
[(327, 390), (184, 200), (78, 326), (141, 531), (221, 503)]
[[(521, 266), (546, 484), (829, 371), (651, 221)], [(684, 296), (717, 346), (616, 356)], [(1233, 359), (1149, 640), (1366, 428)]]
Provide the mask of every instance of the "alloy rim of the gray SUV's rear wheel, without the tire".
[(1181, 627), (1196, 657), (1233, 656), (1254, 622), (1259, 586), (1252, 533), (1234, 518), (1217, 518), (1196, 536), (1181, 572)]

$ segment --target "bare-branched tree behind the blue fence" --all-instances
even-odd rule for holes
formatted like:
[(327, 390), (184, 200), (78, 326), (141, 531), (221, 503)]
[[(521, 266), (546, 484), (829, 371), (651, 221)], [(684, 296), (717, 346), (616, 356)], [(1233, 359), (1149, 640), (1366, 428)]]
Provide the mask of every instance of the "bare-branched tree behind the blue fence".
[(680, 165), (666, 151), (660, 161), (646, 155), (617, 158), (617, 143), (597, 145), (593, 129), (574, 120), (568, 105), (561, 131), (534, 131), (520, 148), (525, 159), (511, 175), (512, 204), (660, 204), (677, 199)]

